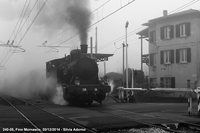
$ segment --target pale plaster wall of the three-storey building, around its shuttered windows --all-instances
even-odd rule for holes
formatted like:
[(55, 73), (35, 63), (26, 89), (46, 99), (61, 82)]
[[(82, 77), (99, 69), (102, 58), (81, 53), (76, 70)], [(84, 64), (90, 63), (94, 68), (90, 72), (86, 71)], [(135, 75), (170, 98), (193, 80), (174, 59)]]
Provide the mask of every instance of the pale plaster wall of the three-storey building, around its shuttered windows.
[[(175, 25), (183, 22), (191, 23), (191, 35), (185, 38), (175, 37)], [(174, 38), (170, 40), (160, 39), (160, 28), (166, 25), (174, 25)], [(152, 71), (153, 67), (149, 67), (150, 78), (157, 78), (160, 83), (160, 77), (175, 77), (176, 88), (186, 88), (187, 80), (190, 79), (192, 87), (194, 82), (199, 79), (200, 65), (200, 18), (194, 16), (177, 17), (165, 21), (156, 22), (149, 26), (149, 32), (156, 30), (156, 45), (149, 43), (149, 53), (156, 53), (156, 71)], [(191, 48), (191, 63), (176, 63), (176, 49)], [(161, 65), (160, 51), (174, 49), (174, 63), (170, 65)]]

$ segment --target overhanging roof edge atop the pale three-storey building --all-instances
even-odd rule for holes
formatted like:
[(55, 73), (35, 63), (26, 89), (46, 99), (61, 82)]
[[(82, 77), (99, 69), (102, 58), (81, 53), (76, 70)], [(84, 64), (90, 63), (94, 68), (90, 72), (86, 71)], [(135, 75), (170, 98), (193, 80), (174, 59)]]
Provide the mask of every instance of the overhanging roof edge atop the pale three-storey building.
[(169, 14), (169, 15), (166, 15), (166, 16), (151, 19), (147, 23), (144, 23), (143, 25), (149, 26), (150, 24), (155, 23), (155, 22), (160, 21), (160, 20), (165, 20), (165, 19), (174, 18), (174, 17), (178, 17), (178, 16), (189, 16), (189, 15), (197, 15), (197, 16), (200, 17), (200, 11), (194, 10), (194, 9), (189, 9), (189, 10), (186, 10), (186, 11), (173, 13), (173, 14)]

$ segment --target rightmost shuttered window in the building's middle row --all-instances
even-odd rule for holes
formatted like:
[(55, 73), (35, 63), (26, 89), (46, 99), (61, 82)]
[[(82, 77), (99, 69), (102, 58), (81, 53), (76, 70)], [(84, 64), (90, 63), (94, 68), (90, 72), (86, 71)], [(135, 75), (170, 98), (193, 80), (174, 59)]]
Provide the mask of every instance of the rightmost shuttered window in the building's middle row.
[(176, 63), (191, 62), (191, 48), (176, 49)]

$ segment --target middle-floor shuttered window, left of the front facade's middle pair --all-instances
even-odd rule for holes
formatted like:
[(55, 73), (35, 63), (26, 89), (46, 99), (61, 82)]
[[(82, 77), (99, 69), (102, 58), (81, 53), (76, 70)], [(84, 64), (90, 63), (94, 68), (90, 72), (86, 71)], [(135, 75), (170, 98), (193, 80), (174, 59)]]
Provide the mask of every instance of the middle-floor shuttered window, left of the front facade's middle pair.
[(161, 51), (160, 54), (161, 64), (174, 63), (174, 50)]

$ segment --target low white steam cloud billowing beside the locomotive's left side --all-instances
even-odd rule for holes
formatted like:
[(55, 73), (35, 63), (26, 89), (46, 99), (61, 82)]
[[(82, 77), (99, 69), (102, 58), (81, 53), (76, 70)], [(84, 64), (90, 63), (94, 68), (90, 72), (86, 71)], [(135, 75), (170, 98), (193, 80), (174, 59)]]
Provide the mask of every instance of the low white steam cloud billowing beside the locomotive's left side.
[(1, 81), (0, 92), (22, 99), (42, 99), (66, 105), (62, 87), (56, 85), (55, 78), (46, 78), (42, 70), (32, 70)]

